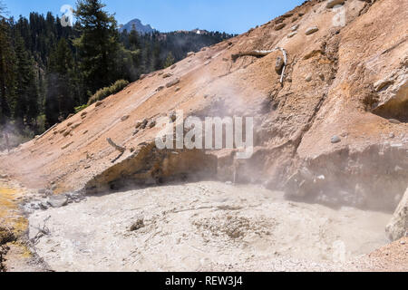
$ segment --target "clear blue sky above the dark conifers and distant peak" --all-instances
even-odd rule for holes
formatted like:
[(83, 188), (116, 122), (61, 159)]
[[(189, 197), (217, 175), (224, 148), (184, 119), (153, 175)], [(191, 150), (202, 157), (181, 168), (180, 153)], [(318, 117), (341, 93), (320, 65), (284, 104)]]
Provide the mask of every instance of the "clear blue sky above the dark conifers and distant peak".
[[(75, 0), (0, 0), (9, 15), (27, 16), (35, 11), (59, 14), (62, 5)], [(305, 0), (104, 0), (106, 9), (116, 14), (118, 24), (133, 18), (151, 24), (161, 32), (201, 28), (242, 34), (257, 24), (267, 23)]]

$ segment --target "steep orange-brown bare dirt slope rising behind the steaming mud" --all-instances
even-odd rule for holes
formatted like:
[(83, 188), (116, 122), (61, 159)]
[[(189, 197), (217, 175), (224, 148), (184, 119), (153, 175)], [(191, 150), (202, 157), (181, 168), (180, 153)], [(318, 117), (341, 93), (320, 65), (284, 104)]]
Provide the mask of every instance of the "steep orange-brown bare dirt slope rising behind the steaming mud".
[[(133, 135), (135, 125), (175, 110), (184, 117), (254, 116), (256, 149), (235, 165), (238, 181), (286, 189), (293, 198), (393, 210), (408, 185), (408, 2), (348, 0), (343, 7), (345, 26), (334, 26), (337, 10), (308, 1), (131, 83), (0, 162), (25, 186), (56, 193), (191, 171), (230, 180), (230, 151), (212, 151), (212, 160), (199, 151), (158, 152), (151, 140), (160, 128)], [(306, 35), (314, 26), (318, 31)], [(231, 59), (275, 47), (288, 53), (283, 87), (274, 69), (280, 52)], [(334, 136), (340, 142), (332, 143)], [(121, 157), (107, 138), (126, 148)]]

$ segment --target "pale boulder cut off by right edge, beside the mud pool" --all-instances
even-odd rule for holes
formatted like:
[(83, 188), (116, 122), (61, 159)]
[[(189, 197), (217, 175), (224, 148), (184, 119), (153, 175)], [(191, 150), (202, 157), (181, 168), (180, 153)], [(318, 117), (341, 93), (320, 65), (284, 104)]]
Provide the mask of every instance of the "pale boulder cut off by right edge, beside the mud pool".
[(388, 226), (385, 228), (385, 232), (390, 240), (396, 241), (402, 237), (405, 237), (408, 233), (408, 189), (406, 189), (403, 199), (401, 200), (398, 208), (393, 214)]

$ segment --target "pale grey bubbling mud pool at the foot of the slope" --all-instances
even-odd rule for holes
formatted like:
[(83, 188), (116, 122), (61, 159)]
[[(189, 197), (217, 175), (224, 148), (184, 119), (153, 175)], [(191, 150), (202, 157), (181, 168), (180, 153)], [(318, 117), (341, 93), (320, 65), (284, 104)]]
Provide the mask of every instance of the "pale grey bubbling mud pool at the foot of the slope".
[(36, 211), (29, 236), (46, 229), (35, 248), (56, 271), (330, 271), (386, 245), (390, 218), (205, 181)]

